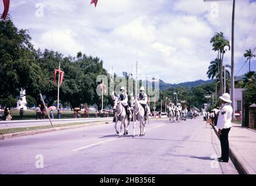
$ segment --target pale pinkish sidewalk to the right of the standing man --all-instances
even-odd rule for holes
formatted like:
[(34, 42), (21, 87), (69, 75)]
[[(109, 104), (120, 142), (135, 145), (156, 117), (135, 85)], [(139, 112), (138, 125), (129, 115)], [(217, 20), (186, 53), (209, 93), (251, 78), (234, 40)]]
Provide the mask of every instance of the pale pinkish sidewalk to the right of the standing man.
[(242, 173), (256, 174), (256, 130), (232, 124), (229, 133), (230, 159)]

